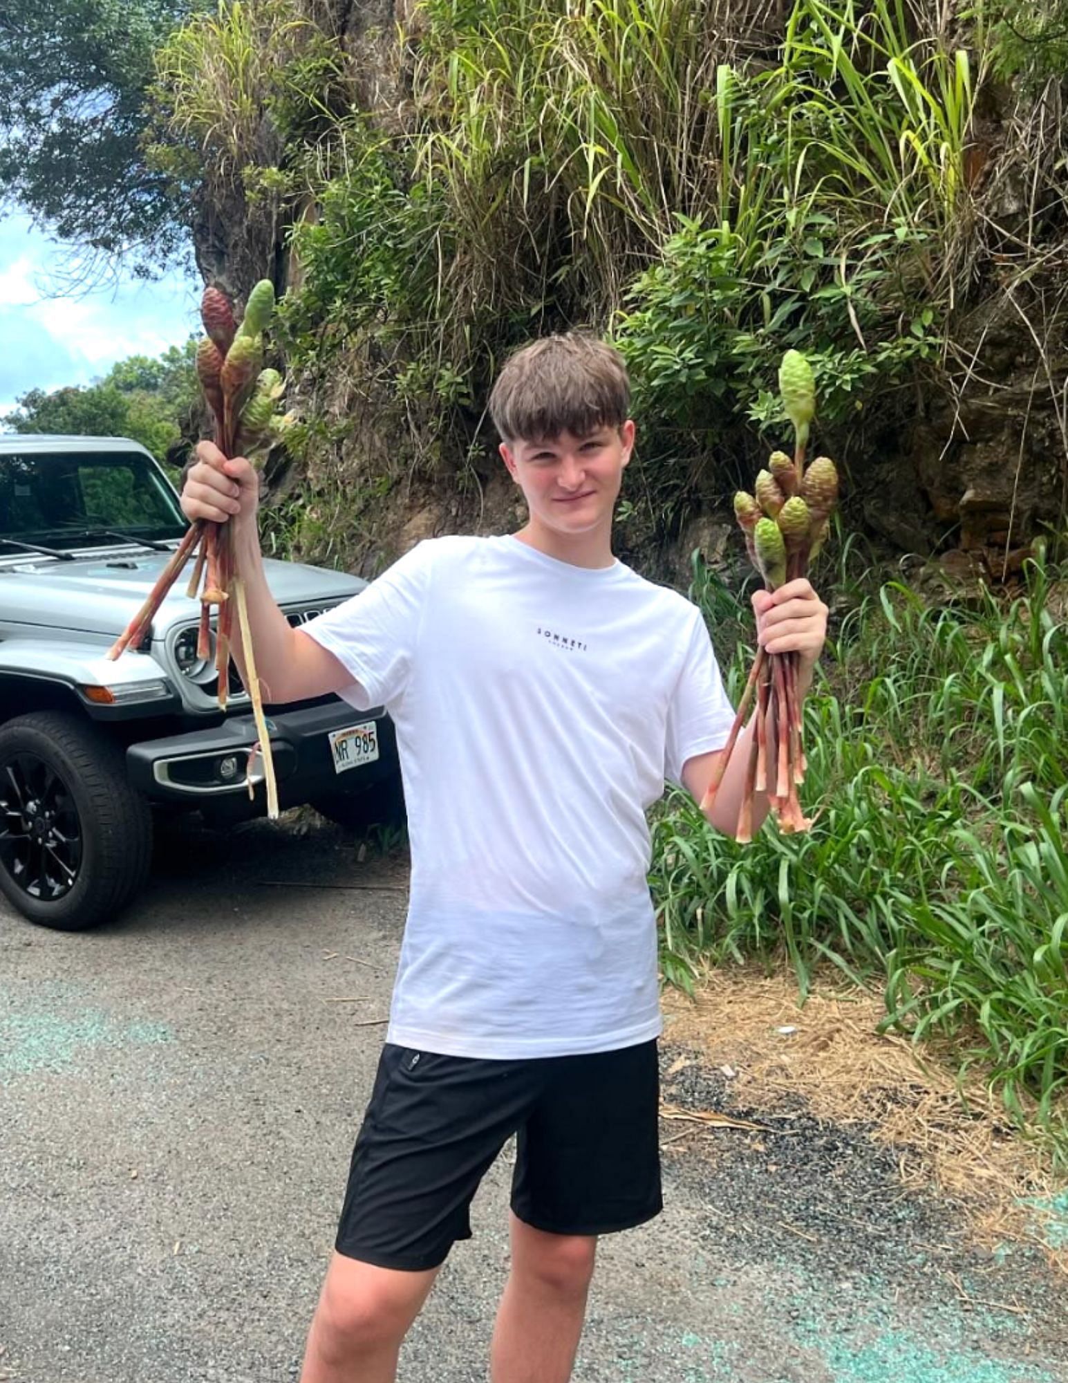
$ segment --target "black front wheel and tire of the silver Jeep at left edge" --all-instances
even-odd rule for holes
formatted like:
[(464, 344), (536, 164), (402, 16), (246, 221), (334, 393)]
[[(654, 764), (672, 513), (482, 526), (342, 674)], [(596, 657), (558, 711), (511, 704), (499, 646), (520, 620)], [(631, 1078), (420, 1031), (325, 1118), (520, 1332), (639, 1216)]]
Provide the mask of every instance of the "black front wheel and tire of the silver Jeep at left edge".
[(40, 927), (107, 921), (148, 877), (152, 816), (122, 750), (73, 715), (0, 726), (0, 889)]

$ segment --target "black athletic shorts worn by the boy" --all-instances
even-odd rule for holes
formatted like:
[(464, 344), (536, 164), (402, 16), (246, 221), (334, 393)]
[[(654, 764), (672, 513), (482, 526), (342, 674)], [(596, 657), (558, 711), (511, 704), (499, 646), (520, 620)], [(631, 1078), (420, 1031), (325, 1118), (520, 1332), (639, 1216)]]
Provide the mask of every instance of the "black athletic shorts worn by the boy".
[(517, 1138), (512, 1209), (549, 1234), (659, 1214), (656, 1041), (585, 1057), (484, 1061), (387, 1044), (356, 1140), (336, 1247), (421, 1271), (470, 1238), (469, 1209)]

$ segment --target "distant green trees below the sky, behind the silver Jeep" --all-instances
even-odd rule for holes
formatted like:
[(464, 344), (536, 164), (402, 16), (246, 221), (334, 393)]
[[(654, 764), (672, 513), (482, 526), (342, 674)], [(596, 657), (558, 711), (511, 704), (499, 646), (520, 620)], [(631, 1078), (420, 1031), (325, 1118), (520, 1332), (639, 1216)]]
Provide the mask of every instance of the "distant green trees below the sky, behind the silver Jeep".
[(163, 461), (190, 434), (198, 408), (196, 339), (162, 355), (130, 355), (86, 387), (32, 389), (3, 422), (18, 433), (133, 437)]

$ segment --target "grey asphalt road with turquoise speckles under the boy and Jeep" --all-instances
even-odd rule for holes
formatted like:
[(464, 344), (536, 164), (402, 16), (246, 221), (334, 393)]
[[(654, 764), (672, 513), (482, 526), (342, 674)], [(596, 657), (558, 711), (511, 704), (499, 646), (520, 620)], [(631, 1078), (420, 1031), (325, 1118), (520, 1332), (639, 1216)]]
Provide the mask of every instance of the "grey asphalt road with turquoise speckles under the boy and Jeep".
[[(0, 911), (0, 1379), (296, 1375), (404, 884), (400, 855), (261, 824), (174, 842), (104, 929)], [(700, 1108), (721, 1094), (694, 1068), (671, 1090)], [(891, 1155), (804, 1119), (771, 1152), (676, 1130), (667, 1213), (602, 1246), (577, 1383), (1068, 1379), (1064, 1285), (971, 1249), (952, 1206), (902, 1194)], [(505, 1155), (405, 1383), (486, 1377), (508, 1177)]]

